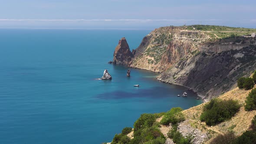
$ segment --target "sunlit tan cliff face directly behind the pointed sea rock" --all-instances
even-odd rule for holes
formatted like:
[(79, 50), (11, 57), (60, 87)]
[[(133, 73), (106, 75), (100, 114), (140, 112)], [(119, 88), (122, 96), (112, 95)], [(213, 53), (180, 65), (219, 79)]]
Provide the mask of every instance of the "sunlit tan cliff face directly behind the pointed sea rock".
[(210, 37), (199, 31), (184, 27), (161, 27), (144, 37), (141, 45), (133, 51), (135, 58), (131, 67), (154, 72), (164, 72), (171, 65), (184, 59), (198, 49), (200, 43)]

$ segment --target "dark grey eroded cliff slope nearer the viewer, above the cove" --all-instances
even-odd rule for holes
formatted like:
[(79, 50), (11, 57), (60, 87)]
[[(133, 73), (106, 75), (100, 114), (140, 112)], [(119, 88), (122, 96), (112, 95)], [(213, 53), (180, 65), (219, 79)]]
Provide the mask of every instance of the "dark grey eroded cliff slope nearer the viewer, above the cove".
[(160, 81), (184, 85), (210, 99), (236, 87), (238, 78), (256, 70), (256, 46), (220, 53), (200, 52), (177, 62), (158, 77)]

